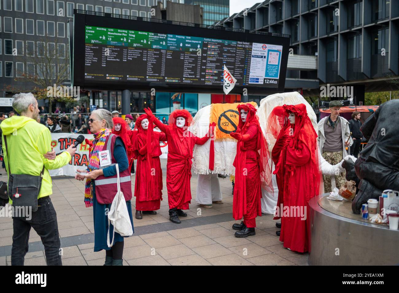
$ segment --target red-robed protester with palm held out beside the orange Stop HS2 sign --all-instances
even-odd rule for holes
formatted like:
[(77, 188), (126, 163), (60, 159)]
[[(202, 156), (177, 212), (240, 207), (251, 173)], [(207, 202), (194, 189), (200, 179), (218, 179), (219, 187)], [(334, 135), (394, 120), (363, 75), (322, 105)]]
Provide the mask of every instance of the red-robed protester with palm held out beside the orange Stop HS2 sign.
[(235, 166), (235, 183), (233, 194), (233, 218), (244, 221), (233, 224), (236, 237), (255, 235), (257, 216), (261, 211), (261, 186), (271, 188), (271, 170), (269, 166), (269, 150), (263, 136), (256, 109), (251, 104), (237, 106), (240, 119), (236, 132), (231, 137), (237, 139)]

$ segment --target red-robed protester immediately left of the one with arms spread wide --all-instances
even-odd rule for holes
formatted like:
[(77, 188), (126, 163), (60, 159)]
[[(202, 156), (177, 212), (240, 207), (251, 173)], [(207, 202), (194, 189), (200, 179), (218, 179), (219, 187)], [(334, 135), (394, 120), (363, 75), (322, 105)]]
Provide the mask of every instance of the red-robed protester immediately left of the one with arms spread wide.
[[(136, 197), (136, 219), (142, 219), (142, 214), (156, 215), (162, 200), (162, 169), (159, 156), (162, 154), (160, 141), (166, 141), (162, 132), (150, 135), (152, 145), (147, 148), (148, 116), (140, 115), (136, 120), (133, 141), (134, 158), (137, 159), (136, 181), (134, 183), (134, 196)], [(148, 160), (151, 156), (151, 160)], [(149, 161), (151, 161), (151, 166)]]

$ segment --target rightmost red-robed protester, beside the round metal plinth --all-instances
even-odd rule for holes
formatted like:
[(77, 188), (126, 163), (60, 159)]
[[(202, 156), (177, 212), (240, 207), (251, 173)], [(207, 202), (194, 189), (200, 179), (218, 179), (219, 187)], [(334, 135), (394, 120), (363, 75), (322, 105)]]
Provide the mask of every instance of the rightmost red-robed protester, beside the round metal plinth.
[(274, 174), (283, 174), (283, 198), (276, 210), (276, 215), (281, 217), (280, 241), (290, 250), (306, 252), (310, 239), (309, 200), (320, 193), (321, 186), (317, 134), (304, 104), (282, 107), (293, 131), (288, 135), (286, 128), (280, 131), (284, 143), (274, 171)]

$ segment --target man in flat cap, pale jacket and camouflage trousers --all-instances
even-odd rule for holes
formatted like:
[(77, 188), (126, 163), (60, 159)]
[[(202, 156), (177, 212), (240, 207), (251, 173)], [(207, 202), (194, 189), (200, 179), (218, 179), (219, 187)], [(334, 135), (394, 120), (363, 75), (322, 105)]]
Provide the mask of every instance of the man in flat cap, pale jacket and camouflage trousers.
[[(342, 103), (339, 101), (330, 102), (331, 114), (324, 117), (318, 123), (318, 142), (320, 152), (324, 159), (332, 165), (338, 164), (342, 158), (348, 155), (346, 146), (353, 143), (350, 137), (348, 120), (339, 116)], [(335, 187), (338, 189), (345, 183), (345, 172), (334, 176)], [(331, 192), (332, 176), (323, 175), (324, 192)]]

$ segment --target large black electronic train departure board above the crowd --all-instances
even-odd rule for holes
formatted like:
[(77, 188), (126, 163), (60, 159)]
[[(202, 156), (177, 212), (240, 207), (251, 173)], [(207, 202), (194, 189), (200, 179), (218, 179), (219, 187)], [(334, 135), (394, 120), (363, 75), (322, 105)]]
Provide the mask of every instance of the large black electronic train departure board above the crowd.
[(75, 14), (74, 59), (79, 52), (84, 65), (74, 60), (74, 85), (219, 93), (226, 65), (237, 79), (233, 92), (284, 89), (289, 38), (117, 20), (125, 24)]

